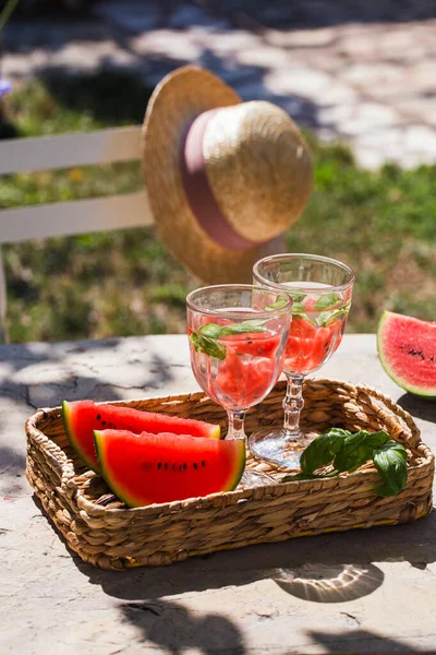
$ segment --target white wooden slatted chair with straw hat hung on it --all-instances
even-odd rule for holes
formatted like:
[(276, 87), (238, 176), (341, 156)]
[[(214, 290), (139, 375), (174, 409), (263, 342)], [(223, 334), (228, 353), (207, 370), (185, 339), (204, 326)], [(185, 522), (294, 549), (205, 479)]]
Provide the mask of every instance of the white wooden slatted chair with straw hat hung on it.
[[(141, 128), (0, 141), (0, 176), (138, 159)], [(125, 195), (0, 210), (0, 343), (5, 329), (7, 281), (1, 243), (150, 225), (145, 190)]]

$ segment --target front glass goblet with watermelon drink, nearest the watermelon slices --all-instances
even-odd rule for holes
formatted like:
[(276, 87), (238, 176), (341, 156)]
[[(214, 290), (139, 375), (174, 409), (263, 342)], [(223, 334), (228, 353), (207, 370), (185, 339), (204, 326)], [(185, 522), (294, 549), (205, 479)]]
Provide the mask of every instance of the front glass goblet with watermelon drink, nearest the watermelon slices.
[[(244, 439), (244, 417), (280, 376), (292, 315), (292, 299), (276, 289), (218, 285), (186, 297), (191, 365), (199, 386), (228, 415), (226, 439)], [(245, 471), (242, 483), (274, 478)]]

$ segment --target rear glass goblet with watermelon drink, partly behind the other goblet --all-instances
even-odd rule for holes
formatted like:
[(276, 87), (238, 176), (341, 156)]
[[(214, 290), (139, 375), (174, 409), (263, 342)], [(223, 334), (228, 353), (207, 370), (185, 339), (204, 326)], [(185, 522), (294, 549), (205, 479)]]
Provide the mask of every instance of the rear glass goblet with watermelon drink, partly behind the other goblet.
[(254, 432), (249, 446), (258, 458), (299, 468), (301, 453), (311, 442), (300, 428), (303, 380), (338, 348), (346, 331), (355, 276), (350, 266), (326, 257), (275, 254), (256, 262), (253, 278), (255, 285), (290, 294), (293, 306), (283, 364), (288, 381), (284, 424), (282, 428)]

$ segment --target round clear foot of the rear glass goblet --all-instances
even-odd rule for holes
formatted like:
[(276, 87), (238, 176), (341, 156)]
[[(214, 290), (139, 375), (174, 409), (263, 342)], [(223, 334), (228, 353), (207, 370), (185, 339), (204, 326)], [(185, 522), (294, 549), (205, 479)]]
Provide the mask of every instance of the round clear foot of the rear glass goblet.
[(303, 450), (313, 441), (301, 430), (266, 428), (254, 432), (249, 438), (249, 448), (258, 460), (265, 460), (289, 469), (300, 468), (300, 457)]

